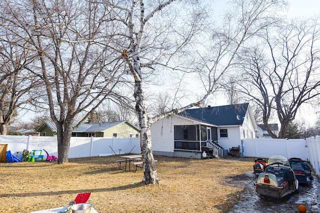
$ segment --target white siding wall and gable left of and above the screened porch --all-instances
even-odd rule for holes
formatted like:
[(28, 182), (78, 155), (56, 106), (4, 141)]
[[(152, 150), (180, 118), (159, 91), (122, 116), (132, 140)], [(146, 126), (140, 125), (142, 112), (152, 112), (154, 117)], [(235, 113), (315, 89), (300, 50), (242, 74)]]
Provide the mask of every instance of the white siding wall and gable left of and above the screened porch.
[(194, 122), (177, 116), (164, 118), (151, 125), (152, 150), (173, 152), (174, 125), (195, 125)]

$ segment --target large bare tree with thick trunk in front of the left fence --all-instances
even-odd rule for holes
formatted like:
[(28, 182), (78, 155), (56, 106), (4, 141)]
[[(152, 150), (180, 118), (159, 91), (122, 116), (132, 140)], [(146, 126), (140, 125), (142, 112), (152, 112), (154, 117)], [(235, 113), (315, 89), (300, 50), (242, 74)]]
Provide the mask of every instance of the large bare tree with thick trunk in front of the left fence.
[(67, 163), (72, 129), (104, 100), (121, 94), (114, 87), (123, 74), (123, 69), (118, 72), (122, 60), (107, 44), (116, 34), (109, 25), (114, 16), (91, 1), (8, 0), (0, 5), (2, 27), (19, 37), (13, 44), (36, 53), (32, 69), (44, 83), (43, 102), (57, 126), (58, 163)]

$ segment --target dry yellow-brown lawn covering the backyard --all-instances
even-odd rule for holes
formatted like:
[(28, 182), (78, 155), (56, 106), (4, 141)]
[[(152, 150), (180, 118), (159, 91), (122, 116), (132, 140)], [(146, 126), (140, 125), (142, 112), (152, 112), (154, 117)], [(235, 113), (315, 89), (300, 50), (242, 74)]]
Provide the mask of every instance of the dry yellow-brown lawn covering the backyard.
[[(154, 156), (159, 186), (118, 170), (119, 156), (0, 164), (0, 212), (29, 213), (67, 206), (78, 193), (99, 213), (227, 213), (252, 178), (251, 158), (185, 159)], [(136, 183), (132, 185), (132, 183)]]

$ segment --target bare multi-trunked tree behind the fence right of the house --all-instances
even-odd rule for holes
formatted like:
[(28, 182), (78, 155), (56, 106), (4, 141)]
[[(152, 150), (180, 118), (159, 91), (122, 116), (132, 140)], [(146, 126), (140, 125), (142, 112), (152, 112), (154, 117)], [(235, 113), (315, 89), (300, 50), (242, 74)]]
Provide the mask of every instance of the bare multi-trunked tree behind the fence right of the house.
[(268, 129), (275, 114), (281, 124), (278, 138), (283, 138), (298, 109), (320, 93), (320, 25), (317, 20), (289, 21), (268, 27), (256, 45), (238, 54), (242, 79), (238, 92), (247, 95), (262, 112)]

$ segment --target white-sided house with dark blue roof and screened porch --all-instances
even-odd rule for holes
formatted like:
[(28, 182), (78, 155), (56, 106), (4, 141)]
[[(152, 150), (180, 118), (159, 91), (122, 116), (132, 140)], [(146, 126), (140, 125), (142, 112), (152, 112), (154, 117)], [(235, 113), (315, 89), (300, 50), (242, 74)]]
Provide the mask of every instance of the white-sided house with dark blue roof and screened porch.
[(152, 150), (155, 155), (199, 159), (212, 147), (221, 156), (222, 150), (239, 151), (241, 139), (255, 138), (255, 131), (248, 103), (188, 109), (152, 124)]

